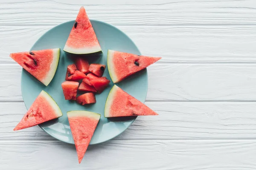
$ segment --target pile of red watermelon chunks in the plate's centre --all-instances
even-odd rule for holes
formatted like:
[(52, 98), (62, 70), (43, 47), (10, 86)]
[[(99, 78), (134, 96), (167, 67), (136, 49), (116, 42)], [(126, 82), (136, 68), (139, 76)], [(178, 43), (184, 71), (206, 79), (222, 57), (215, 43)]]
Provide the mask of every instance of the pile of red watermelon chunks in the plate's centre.
[[(78, 57), (76, 64), (67, 66), (66, 80), (61, 84), (63, 94), (66, 100), (76, 100), (81, 105), (96, 103), (94, 93), (101, 94), (110, 83), (107, 77), (102, 77), (106, 65), (90, 64)], [(79, 85), (79, 80), (82, 79)], [(84, 94), (76, 97), (77, 91), (83, 91)]]

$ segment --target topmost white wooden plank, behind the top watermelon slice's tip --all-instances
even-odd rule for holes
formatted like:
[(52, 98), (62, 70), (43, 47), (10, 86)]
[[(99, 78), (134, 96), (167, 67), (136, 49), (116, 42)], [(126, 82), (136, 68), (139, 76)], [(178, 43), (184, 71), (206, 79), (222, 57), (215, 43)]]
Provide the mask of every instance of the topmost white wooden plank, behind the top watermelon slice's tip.
[(12, 0), (0, 2), (0, 25), (57, 25), (82, 5), (91, 19), (118, 25), (256, 24), (254, 0)]

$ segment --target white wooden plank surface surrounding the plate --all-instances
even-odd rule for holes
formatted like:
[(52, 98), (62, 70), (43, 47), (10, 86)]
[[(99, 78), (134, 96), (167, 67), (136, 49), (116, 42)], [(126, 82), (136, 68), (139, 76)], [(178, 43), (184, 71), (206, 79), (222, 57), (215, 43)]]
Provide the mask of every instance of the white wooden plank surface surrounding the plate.
[[(145, 102), (159, 116), (90, 146), (78, 164), (73, 145), (41, 128), (12, 131), (26, 108), (9, 53), (82, 5), (163, 59), (148, 68)], [(0, 170), (255, 170), (255, 45), (255, 0), (0, 0)]]

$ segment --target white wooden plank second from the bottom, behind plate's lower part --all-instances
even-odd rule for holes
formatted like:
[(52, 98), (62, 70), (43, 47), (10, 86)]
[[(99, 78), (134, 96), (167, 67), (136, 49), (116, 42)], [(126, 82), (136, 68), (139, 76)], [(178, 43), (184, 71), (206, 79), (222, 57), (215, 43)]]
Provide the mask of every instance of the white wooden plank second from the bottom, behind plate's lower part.
[[(255, 102), (145, 102), (159, 116), (139, 116), (113, 140), (256, 139)], [(1, 140), (55, 140), (40, 127), (13, 131), (22, 102), (0, 103)]]

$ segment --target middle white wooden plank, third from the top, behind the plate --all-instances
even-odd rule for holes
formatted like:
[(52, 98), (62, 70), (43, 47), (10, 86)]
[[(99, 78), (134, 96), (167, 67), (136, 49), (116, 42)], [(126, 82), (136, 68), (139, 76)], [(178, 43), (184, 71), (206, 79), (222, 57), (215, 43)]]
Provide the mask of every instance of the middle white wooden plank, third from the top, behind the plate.
[[(0, 101), (23, 101), (21, 68), (0, 65)], [(256, 64), (154, 64), (147, 100), (256, 101)]]

